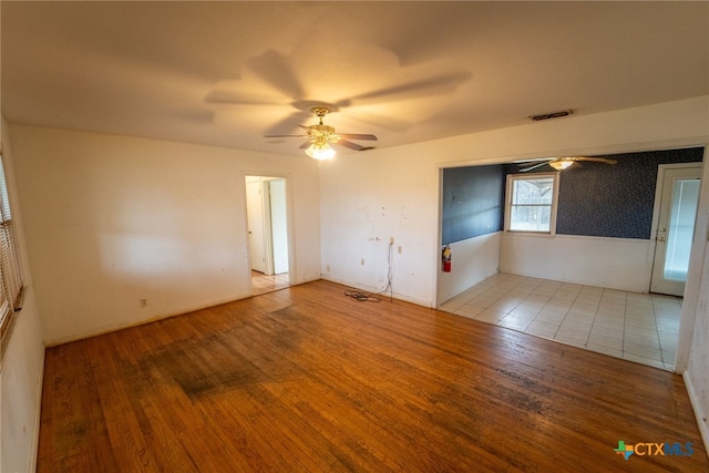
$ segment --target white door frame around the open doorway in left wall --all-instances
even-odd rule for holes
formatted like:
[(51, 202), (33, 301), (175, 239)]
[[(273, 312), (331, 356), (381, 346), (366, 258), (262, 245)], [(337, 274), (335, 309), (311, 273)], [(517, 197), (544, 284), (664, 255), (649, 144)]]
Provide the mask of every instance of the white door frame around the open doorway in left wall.
[(296, 241), (295, 241), (295, 227), (294, 227), (294, 204), (292, 204), (292, 176), (290, 173), (274, 173), (271, 171), (242, 171), (242, 196), (243, 196), (243, 226), (244, 226), (244, 245), (245, 245), (245, 258), (244, 258), (244, 275), (246, 280), (249, 281), (248, 294), (254, 295), (254, 287), (250, 284), (251, 280), (251, 254), (248, 244), (248, 209), (246, 205), (246, 178), (247, 177), (267, 177), (275, 179), (284, 179), (286, 183), (286, 232), (287, 232), (287, 245), (288, 245), (288, 286), (294, 285), (294, 276), (297, 267), (296, 258)]

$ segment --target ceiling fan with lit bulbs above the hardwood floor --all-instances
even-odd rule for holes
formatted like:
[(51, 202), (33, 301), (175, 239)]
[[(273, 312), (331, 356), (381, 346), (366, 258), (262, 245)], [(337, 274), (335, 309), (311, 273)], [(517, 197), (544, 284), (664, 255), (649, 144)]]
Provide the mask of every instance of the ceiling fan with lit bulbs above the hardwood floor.
[(328, 126), (322, 123), (322, 117), (330, 113), (330, 107), (325, 105), (316, 105), (310, 107), (310, 112), (314, 113), (318, 119), (319, 123), (317, 125), (298, 125), (306, 131), (305, 134), (300, 135), (266, 135), (267, 138), (284, 138), (284, 137), (297, 137), (297, 138), (307, 138), (300, 147), (306, 148), (306, 154), (310, 157), (314, 157), (319, 161), (326, 161), (332, 158), (335, 156), (335, 150), (330, 146), (330, 143), (336, 143), (338, 145), (349, 147), (350, 150), (357, 151), (367, 151), (372, 150), (371, 146), (361, 146), (357, 143), (352, 143), (350, 141), (343, 140), (366, 140), (366, 141), (377, 141), (377, 136), (369, 134), (352, 134), (352, 133), (335, 133), (335, 128), (332, 126)]

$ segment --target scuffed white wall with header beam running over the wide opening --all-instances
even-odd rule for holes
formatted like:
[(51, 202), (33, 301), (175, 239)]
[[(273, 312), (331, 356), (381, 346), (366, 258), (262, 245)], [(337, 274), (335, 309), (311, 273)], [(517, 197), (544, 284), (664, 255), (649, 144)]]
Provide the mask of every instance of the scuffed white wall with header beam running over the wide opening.
[[(708, 141), (709, 96), (702, 96), (336, 156), (320, 174), (323, 277), (363, 289), (381, 287), (388, 238), (394, 236), (402, 245), (402, 254), (394, 253), (394, 295), (435, 306), (444, 300), (436, 291), (446, 290), (438, 287), (440, 168)], [(453, 279), (455, 261), (454, 254)]]

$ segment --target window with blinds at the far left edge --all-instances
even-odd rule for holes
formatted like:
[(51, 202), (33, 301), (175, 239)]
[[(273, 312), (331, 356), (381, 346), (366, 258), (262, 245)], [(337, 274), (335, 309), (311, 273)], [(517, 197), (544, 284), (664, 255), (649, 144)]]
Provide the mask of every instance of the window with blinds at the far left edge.
[(22, 300), (22, 274), (14, 244), (10, 200), (0, 156), (0, 338), (4, 337)]

